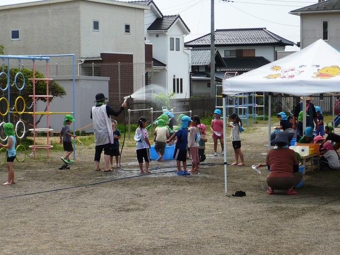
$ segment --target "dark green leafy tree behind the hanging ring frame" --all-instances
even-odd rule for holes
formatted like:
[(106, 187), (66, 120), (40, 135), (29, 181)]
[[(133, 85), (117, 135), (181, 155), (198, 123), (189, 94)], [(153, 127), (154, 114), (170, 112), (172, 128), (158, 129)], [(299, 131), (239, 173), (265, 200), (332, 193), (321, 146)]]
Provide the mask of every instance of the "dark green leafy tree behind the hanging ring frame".
[[(5, 65), (2, 67), (1, 72), (5, 72), (7, 73), (8, 67)], [(23, 75), (18, 74), (19, 72), (21, 72)], [(18, 75), (17, 75), (18, 74)], [(17, 75), (17, 78), (15, 79), (15, 76)], [(25, 77), (25, 78), (24, 78)], [(30, 105), (32, 104), (32, 96), (33, 95), (33, 82), (32, 79), (33, 78), (33, 70), (27, 69), (27, 68), (18, 68), (18, 67), (13, 67), (10, 68), (9, 70), (9, 83), (10, 83), (10, 102), (11, 105), (9, 107), (11, 107), (11, 109), (13, 108), (14, 102), (17, 99), (18, 96), (22, 96), (26, 102), (26, 107), (30, 107)], [(35, 70), (35, 78), (36, 79), (43, 79), (45, 78), (45, 76), (40, 73), (39, 71)], [(24, 79), (25, 79), (25, 87), (22, 89), (23, 85), (24, 85)], [(5, 88), (7, 87), (7, 77), (6, 75), (1, 75), (0, 76), (0, 87), (2, 91), (2, 97), (5, 97), (6, 99), (8, 98), (8, 88), (5, 90)], [(44, 80), (38, 80), (35, 83), (35, 95), (46, 95), (47, 91), (47, 86), (46, 86), (46, 81)], [(21, 90), (22, 89), (22, 90)], [(48, 83), (48, 95), (49, 96), (53, 96), (53, 97), (37, 97), (37, 101), (43, 101), (46, 102), (47, 100), (49, 100), (49, 102), (53, 101), (53, 98), (55, 97), (64, 97), (66, 95), (66, 91), (64, 89), (64, 87), (62, 87), (59, 83), (55, 82), (55, 81), (49, 81)], [(22, 100), (18, 101), (18, 107), (20, 105), (20, 103), (22, 103)], [(3, 103), (3, 101), (1, 101), (1, 112), (4, 113), (6, 111), (5, 107), (7, 107), (7, 105), (5, 105)], [(23, 106), (21, 106), (21, 108), (18, 108), (18, 111), (20, 112), (23, 109)], [(47, 110), (47, 106), (45, 107), (45, 110)], [(25, 111), (28, 111), (28, 109), (26, 109)], [(30, 111), (33, 111), (30, 110)], [(43, 117), (43, 115), (40, 115), (40, 117), (36, 120), (35, 125), (38, 125), (38, 123), (40, 122), (41, 118)]]

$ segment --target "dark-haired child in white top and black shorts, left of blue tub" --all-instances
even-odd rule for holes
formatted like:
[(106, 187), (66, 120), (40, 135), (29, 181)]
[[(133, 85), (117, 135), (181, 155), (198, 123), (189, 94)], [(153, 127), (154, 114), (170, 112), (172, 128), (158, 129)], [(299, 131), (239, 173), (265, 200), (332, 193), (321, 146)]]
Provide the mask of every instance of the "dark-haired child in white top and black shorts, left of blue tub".
[(146, 130), (147, 119), (145, 117), (139, 117), (138, 119), (138, 127), (136, 129), (136, 134), (134, 139), (137, 141), (136, 143), (136, 154), (138, 165), (140, 169), (140, 173), (143, 174), (143, 159), (145, 160), (145, 173), (151, 173), (149, 171), (149, 162), (150, 159), (150, 142), (149, 142), (149, 134)]

